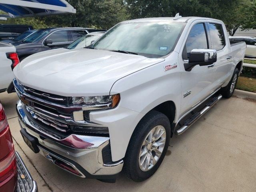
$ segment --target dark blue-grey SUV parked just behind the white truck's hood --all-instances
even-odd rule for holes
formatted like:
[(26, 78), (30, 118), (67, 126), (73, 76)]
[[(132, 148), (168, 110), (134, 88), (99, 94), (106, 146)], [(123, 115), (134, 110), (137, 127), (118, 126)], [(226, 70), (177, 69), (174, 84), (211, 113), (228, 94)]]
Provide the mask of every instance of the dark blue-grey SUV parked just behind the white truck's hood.
[(41, 29), (20, 43), (15, 43), (16, 52), (22, 61), (27, 56), (41, 51), (63, 48), (80, 37), (94, 32), (90, 28), (46, 28)]

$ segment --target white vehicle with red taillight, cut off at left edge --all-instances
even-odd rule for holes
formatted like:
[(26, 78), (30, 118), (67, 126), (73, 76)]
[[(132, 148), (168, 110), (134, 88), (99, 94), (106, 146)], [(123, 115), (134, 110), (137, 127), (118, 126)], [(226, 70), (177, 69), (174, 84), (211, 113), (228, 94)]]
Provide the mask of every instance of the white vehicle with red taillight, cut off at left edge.
[(0, 42), (0, 93), (5, 92), (12, 82), (14, 78), (12, 70), (19, 62), (15, 47), (11, 44)]

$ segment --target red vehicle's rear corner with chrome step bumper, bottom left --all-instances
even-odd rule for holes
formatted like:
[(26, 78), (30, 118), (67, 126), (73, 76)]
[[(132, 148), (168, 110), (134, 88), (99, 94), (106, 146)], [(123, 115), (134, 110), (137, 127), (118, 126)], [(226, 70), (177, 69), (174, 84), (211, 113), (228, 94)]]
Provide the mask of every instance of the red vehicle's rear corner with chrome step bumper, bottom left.
[(14, 150), (10, 128), (0, 102), (0, 192), (16, 191), (37, 192), (37, 185)]

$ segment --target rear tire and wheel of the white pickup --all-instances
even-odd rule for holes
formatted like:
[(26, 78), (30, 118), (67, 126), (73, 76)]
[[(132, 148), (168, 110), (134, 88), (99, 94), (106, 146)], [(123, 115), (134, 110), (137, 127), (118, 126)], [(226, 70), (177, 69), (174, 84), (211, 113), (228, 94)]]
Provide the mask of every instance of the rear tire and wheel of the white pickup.
[(224, 98), (230, 98), (233, 95), (238, 80), (238, 73), (238, 68), (235, 68), (232, 78), (228, 85), (226, 87), (221, 88), (220, 93)]

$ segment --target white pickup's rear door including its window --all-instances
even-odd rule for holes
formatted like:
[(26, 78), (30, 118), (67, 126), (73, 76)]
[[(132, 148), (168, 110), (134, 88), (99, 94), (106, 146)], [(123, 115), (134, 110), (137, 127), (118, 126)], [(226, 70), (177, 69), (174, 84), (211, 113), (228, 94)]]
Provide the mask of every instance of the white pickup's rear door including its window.
[[(217, 61), (212, 67), (211, 76), (214, 89), (218, 89), (230, 77), (232, 50), (225, 26), (218, 21), (207, 23), (211, 40), (211, 48), (217, 51)], [(233, 72), (232, 72), (233, 73)]]

